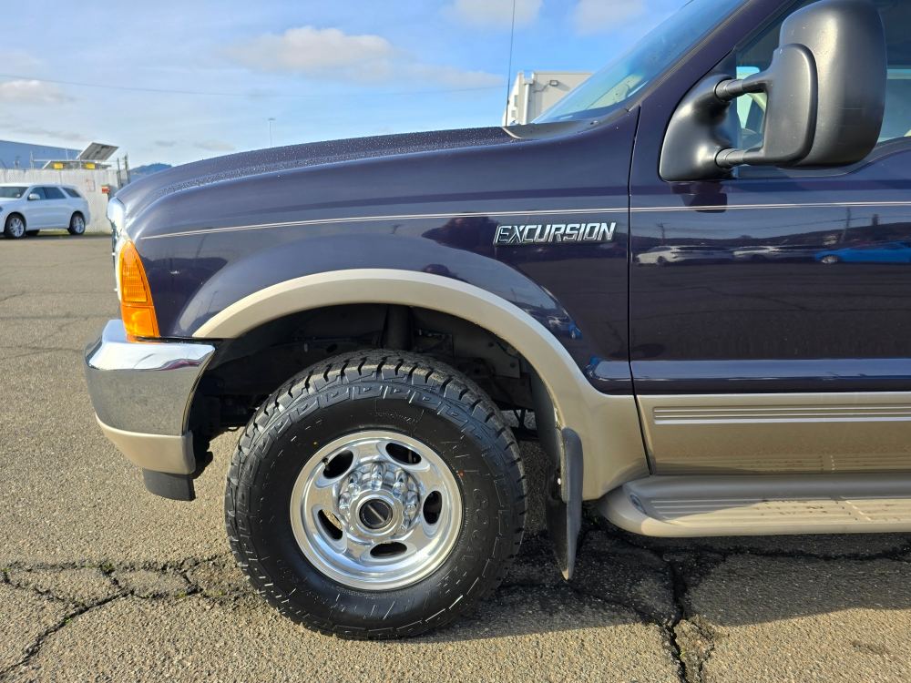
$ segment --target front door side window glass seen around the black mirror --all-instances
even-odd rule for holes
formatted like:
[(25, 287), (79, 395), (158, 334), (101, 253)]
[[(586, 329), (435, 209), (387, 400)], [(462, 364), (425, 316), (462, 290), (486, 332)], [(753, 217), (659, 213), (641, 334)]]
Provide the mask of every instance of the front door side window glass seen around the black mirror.
[[(803, 0), (793, 5), (779, 21), (766, 28), (762, 35), (737, 49), (738, 78), (763, 71), (769, 66), (778, 46), (778, 33), (784, 19), (812, 2), (813, 0)], [(875, 5), (883, 17), (888, 50), (885, 117), (879, 134), (879, 142), (882, 144), (899, 138), (911, 139), (911, 42), (907, 39), (911, 33), (911, 3), (875, 0)], [(820, 87), (825, 87), (825, 84), (821, 83)], [(765, 95), (739, 97), (737, 117), (741, 129), (739, 147), (749, 148), (762, 144)]]

